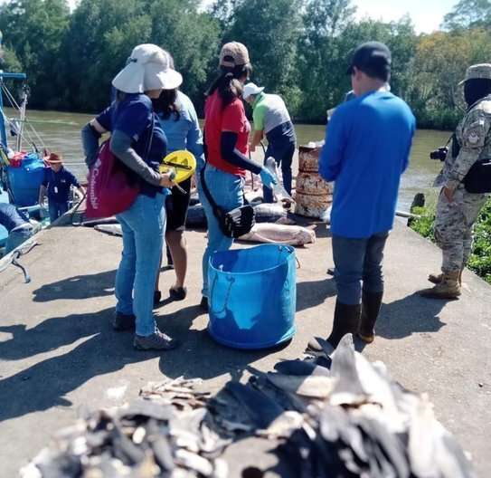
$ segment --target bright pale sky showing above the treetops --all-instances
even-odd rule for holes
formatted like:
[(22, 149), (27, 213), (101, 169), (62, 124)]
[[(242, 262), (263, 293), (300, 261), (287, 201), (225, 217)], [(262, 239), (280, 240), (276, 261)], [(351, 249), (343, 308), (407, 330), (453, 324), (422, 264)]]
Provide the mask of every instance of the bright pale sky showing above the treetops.
[[(2, 0), (0, 0), (1, 2)], [(410, 14), (417, 33), (431, 33), (439, 29), (445, 14), (448, 14), (458, 0), (353, 0), (357, 17), (371, 17), (384, 22), (396, 21), (404, 14)], [(69, 0), (71, 7), (77, 0)], [(211, 4), (204, 0), (203, 4)]]

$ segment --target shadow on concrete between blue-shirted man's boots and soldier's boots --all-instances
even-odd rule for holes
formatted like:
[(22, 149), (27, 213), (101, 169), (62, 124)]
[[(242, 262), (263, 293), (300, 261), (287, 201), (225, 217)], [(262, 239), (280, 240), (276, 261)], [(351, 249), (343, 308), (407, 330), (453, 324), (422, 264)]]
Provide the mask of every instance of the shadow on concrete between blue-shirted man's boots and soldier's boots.
[(382, 305), (376, 333), (385, 339), (403, 339), (413, 333), (438, 332), (446, 324), (439, 312), (448, 301), (425, 299), (414, 292), (399, 301)]

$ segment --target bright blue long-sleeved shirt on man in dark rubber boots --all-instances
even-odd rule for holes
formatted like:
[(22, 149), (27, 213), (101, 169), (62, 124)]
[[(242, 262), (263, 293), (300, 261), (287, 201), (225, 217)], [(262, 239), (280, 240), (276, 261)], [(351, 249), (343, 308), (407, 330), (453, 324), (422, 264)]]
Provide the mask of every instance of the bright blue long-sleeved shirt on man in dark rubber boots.
[(392, 229), (415, 129), (409, 106), (389, 91), (371, 91), (335, 109), (319, 158), (320, 175), (335, 181), (333, 234), (367, 238)]

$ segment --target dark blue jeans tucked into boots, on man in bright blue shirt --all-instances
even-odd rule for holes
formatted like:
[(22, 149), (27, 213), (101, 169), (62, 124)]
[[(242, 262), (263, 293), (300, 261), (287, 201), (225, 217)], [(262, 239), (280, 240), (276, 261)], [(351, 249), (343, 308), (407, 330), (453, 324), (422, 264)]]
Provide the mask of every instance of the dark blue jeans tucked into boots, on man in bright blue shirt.
[(383, 249), (388, 232), (366, 239), (333, 235), (333, 258), (337, 299), (347, 305), (362, 301), (364, 292), (383, 292)]

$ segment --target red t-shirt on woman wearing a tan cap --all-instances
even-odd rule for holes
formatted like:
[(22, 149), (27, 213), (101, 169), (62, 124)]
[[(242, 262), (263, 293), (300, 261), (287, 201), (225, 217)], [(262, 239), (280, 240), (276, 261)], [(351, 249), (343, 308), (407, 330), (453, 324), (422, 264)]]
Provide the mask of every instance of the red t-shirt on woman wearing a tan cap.
[(245, 170), (222, 158), (220, 141), (222, 131), (237, 133), (236, 148), (245, 156), (249, 153), (250, 123), (245, 115), (242, 101), (236, 98), (222, 109), (222, 99), (214, 91), (204, 103), (204, 139), (208, 151), (207, 161), (227, 173), (245, 176)]

